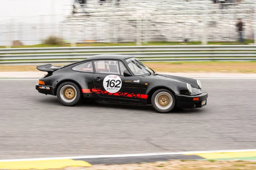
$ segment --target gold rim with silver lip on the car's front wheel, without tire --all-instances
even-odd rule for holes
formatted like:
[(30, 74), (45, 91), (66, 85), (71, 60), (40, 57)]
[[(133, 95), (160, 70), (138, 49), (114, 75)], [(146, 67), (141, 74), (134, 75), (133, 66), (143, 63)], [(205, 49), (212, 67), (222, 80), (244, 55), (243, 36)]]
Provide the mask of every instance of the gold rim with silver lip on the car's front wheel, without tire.
[(169, 109), (172, 106), (172, 96), (167, 92), (160, 92), (155, 97), (155, 104), (161, 110)]

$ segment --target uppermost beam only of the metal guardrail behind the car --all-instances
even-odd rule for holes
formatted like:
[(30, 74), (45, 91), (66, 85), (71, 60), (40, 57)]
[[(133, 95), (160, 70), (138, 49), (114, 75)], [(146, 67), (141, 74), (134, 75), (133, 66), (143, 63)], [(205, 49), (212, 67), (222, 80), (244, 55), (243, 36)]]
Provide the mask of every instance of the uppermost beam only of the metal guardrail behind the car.
[(0, 54), (72, 53), (72, 52), (125, 52), (125, 51), (231, 51), (256, 50), (256, 45), (142, 45), (142, 46), (94, 46), (51, 48), (0, 48)]

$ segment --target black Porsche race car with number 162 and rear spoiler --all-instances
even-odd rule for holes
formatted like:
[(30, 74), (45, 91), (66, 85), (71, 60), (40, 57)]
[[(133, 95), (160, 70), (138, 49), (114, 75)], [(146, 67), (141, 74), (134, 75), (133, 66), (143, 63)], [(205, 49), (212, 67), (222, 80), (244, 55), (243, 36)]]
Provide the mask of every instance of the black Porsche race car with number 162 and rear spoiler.
[(36, 90), (57, 96), (66, 106), (76, 105), (81, 98), (151, 104), (160, 113), (207, 105), (208, 94), (199, 80), (157, 74), (129, 55), (95, 55), (64, 66), (36, 68), (48, 72), (39, 79)]

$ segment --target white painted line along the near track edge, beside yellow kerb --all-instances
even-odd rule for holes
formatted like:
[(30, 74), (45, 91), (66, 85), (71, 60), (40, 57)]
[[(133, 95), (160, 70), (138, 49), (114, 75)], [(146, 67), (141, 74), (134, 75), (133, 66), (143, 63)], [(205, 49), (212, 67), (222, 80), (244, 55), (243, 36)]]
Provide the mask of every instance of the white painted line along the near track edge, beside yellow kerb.
[(71, 156), (71, 157), (54, 157), (54, 158), (32, 158), (32, 159), (5, 159), (0, 162), (11, 161), (43, 161), (43, 160), (60, 160), (60, 159), (93, 159), (93, 158), (119, 158), (134, 156), (157, 156), (157, 155), (180, 155), (180, 154), (198, 154), (198, 153), (228, 153), (228, 152), (256, 152), (256, 149), (247, 150), (212, 150), (212, 151), (189, 151), (189, 152), (171, 152), (171, 153), (138, 153), (122, 155), (96, 155), (96, 156)]

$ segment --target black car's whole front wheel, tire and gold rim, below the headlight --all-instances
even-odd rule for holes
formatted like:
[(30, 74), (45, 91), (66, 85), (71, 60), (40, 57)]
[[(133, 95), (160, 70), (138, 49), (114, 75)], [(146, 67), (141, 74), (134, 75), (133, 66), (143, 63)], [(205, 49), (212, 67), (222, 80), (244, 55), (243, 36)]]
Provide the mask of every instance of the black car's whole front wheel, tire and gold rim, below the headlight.
[(169, 90), (158, 89), (151, 97), (151, 104), (159, 113), (168, 113), (175, 108), (175, 96)]

